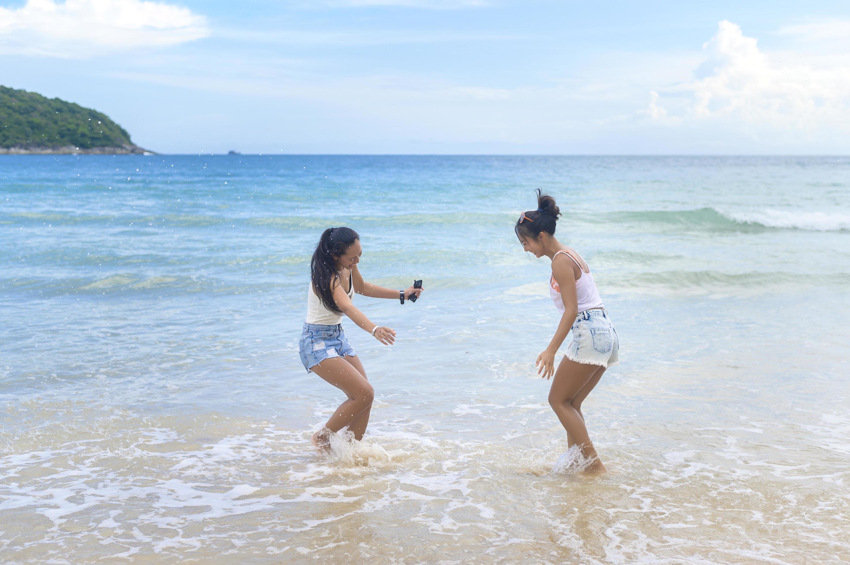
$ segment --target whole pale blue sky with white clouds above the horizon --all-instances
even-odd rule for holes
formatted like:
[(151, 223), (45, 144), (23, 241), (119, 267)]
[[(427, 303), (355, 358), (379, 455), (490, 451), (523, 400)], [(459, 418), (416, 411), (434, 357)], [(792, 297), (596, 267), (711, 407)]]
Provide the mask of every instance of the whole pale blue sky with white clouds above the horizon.
[(847, 155), (850, 3), (0, 0), (0, 84), (161, 153)]

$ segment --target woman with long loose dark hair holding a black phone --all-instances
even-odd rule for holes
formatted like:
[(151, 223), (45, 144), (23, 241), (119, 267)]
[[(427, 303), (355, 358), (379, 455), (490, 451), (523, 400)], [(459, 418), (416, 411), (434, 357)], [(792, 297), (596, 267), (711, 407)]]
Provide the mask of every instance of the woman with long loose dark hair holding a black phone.
[(340, 325), (343, 315), (384, 345), (395, 341), (395, 331), (374, 324), (354, 308), (351, 302), (354, 292), (366, 297), (399, 299), (402, 304), (422, 293), (422, 288), (412, 286), (405, 291), (394, 291), (365, 282), (357, 268), (361, 255), (360, 236), (354, 229), (330, 228), (321, 234), (310, 260), (307, 321), (298, 344), (301, 361), (308, 373), (315, 373), (348, 396), (325, 426), (313, 434), (315, 448), (324, 453), (330, 450), (331, 434), (343, 427), (348, 427), (354, 439), (363, 438), (375, 393)]

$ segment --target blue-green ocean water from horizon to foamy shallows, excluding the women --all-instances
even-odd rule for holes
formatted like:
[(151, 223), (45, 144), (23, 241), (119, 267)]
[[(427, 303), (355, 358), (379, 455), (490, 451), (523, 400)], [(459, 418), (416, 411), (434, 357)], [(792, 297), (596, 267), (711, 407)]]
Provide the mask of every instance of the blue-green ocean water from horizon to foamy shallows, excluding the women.
[[(622, 363), (575, 472), (534, 362), (534, 189)], [(0, 561), (850, 561), (847, 157), (2, 155)], [(300, 363), (321, 231), (360, 233), (359, 445)], [(569, 340), (568, 340), (569, 342)], [(566, 349), (566, 344), (562, 351)]]

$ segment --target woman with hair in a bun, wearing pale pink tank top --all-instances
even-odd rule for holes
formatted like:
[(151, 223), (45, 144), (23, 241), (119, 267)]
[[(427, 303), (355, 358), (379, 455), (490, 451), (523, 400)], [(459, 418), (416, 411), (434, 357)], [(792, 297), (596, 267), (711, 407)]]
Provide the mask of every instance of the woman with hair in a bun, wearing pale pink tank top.
[[(549, 257), (552, 275), (549, 294), (561, 312), (561, 321), (549, 346), (537, 356), (537, 374), (549, 379), (549, 404), (567, 431), (570, 448), (578, 445), (587, 460), (587, 472), (604, 472), (596, 449), (587, 435), (581, 403), (596, 387), (605, 370), (617, 364), (620, 339), (605, 309), (590, 268), (575, 249), (555, 239), (561, 215), (555, 199), (537, 190), (537, 209), (519, 215), (514, 231), (525, 251)], [(567, 333), (573, 341), (555, 370), (555, 354)]]

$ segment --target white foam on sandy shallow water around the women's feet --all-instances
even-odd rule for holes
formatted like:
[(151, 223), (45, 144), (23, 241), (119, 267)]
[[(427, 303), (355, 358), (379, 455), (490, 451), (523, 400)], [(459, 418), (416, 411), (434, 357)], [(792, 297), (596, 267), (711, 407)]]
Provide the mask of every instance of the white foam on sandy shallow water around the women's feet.
[[(113, 558), (191, 551), (333, 561), (350, 551), (375, 551), (372, 538), (393, 516), (416, 540), (439, 536), (452, 559), (462, 556), (466, 540), (478, 540), (476, 551), (507, 561), (551, 561), (552, 551), (569, 551), (558, 559), (648, 563), (681, 556), (699, 562), (710, 551), (726, 556), (719, 562), (793, 562), (775, 536), (763, 538), (758, 550), (745, 545), (747, 536), (768, 517), (786, 528), (808, 528), (801, 507), (823, 503), (819, 522), (841, 511), (841, 498), (816, 485), (834, 491), (845, 472), (817, 473), (799, 459), (789, 465), (754, 456), (756, 442), (771, 433), (770, 421), (759, 419), (764, 433), (753, 434), (737, 425), (736, 416), (726, 419), (726, 427), (692, 430), (696, 437), (660, 453), (607, 426), (609, 435), (597, 447), (612, 473), (585, 481), (570, 478), (587, 465), (578, 448), (551, 464), (553, 442), (563, 441), (563, 430), (550, 413), (528, 409), (541, 404), (526, 402), (457, 403), (504, 413), (518, 424), (528, 419), (524, 436), (510, 444), (498, 426), (454, 434), (399, 418), (373, 422), (364, 441), (337, 434), (327, 456), (314, 454), (309, 432), (269, 422), (219, 427), (214, 418), (201, 419), (211, 427), (199, 431), (207, 438), (199, 443), (191, 439), (191, 425), (137, 425), (132, 415), (122, 415), (130, 421), (78, 427), (73, 433), (79, 439), (59, 441), (61, 449), (23, 449), (0, 459), (4, 474), (14, 477), (0, 489), (0, 511), (40, 514), (55, 526), (19, 537), (93, 544), (96, 555)], [(594, 438), (607, 410), (588, 412)], [(837, 433), (844, 414), (831, 410), (814, 418), (813, 432)], [(484, 420), (469, 413), (451, 417)], [(95, 430), (99, 438), (91, 437)], [(45, 465), (49, 474), (40, 471)], [(786, 485), (787, 495), (779, 502), (765, 497), (777, 489), (766, 482)], [(239, 531), (233, 523), (241, 524)], [(737, 528), (724, 545), (711, 545), (717, 523)], [(552, 531), (554, 543), (540, 540), (540, 528)], [(828, 533), (809, 533), (810, 551), (811, 544), (827, 541), (830, 551), (850, 551)], [(398, 551), (405, 558), (417, 555), (415, 544)]]

